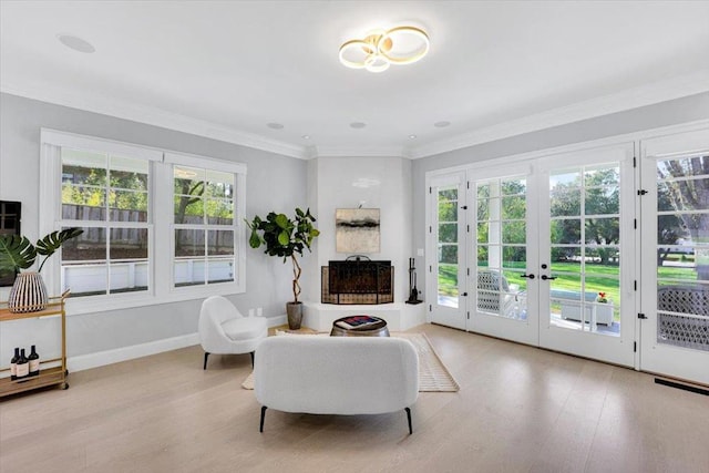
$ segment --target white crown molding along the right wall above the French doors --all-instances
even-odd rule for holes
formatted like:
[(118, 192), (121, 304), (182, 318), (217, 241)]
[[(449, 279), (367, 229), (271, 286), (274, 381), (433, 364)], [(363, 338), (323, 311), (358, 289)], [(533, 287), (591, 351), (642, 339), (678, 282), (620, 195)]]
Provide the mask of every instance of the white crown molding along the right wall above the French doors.
[(412, 160), (709, 91), (709, 69), (628, 89), (407, 150)]

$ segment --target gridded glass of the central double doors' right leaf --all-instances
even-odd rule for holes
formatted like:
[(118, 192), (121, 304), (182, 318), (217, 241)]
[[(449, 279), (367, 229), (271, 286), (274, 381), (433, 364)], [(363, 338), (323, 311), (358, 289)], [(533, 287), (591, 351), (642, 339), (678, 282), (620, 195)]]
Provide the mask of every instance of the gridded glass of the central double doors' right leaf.
[(620, 167), (549, 174), (549, 323), (620, 335)]

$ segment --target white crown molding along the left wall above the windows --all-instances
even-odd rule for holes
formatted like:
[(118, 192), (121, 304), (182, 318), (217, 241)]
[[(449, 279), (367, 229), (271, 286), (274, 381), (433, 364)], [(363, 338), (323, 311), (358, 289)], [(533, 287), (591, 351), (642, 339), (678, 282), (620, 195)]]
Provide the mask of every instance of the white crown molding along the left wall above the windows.
[(85, 92), (75, 94), (65, 90), (44, 85), (41, 88), (22, 86), (8, 83), (7, 81), (0, 83), (0, 92), (79, 109), (86, 112), (100, 113), (117, 119), (130, 120), (132, 122), (160, 126), (183, 133), (189, 133), (213, 140), (219, 140), (285, 156), (297, 157), (299, 160), (306, 160), (309, 157), (304, 146), (266, 138), (253, 133), (239, 132), (205, 120), (165, 112), (156, 107), (117, 101), (103, 95)]

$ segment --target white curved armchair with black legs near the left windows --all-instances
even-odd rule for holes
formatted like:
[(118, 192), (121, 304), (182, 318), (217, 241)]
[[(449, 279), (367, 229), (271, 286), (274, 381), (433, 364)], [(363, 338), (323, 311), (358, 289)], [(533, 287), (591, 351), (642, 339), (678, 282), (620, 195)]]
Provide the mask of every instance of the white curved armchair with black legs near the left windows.
[(265, 317), (244, 317), (232, 302), (222, 296), (213, 296), (202, 302), (199, 311), (199, 343), (204, 349), (204, 368), (209, 353), (251, 353), (268, 336)]

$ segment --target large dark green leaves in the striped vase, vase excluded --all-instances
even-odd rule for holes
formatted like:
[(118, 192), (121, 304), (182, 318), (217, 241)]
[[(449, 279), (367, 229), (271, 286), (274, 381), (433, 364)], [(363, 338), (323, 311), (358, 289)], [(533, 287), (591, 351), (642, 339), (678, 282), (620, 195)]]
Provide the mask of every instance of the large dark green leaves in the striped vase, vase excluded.
[(63, 230), (52, 232), (44, 238), (38, 239), (32, 245), (25, 236), (19, 235), (1, 235), (0, 236), (0, 270), (20, 273), (22, 269), (29, 269), (34, 265), (38, 256), (44, 258), (40, 263), (38, 273), (44, 267), (47, 259), (52, 256), (66, 240), (78, 237), (84, 230), (81, 228), (66, 228)]

